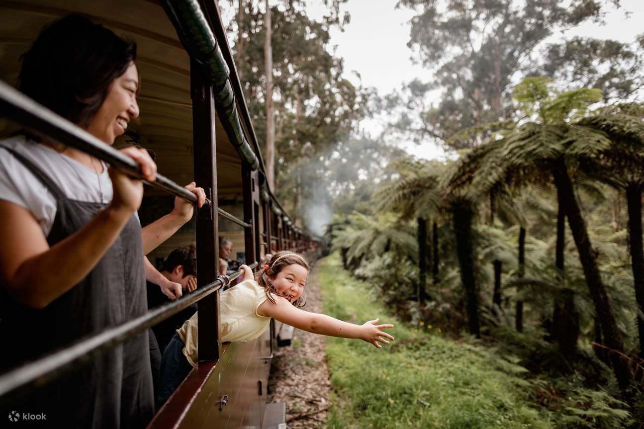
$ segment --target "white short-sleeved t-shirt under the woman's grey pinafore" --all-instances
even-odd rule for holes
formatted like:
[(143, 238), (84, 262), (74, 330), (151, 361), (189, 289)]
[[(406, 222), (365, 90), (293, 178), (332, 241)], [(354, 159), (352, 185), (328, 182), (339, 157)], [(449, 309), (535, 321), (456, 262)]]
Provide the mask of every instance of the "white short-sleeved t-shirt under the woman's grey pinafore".
[[(24, 207), (33, 214), (47, 236), (56, 216), (56, 198), (33, 173), (5, 148), (14, 149), (30, 160), (57, 184), (68, 198), (85, 202), (112, 200), (112, 182), (107, 166), (97, 173), (54, 149), (15, 136), (0, 141), (0, 199)], [(89, 156), (89, 155), (88, 155)], [(102, 201), (100, 196), (102, 193)]]

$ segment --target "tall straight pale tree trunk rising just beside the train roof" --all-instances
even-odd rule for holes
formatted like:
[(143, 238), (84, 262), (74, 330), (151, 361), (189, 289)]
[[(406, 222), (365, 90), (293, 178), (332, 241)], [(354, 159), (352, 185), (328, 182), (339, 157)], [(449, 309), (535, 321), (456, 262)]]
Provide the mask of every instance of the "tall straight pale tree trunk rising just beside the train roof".
[(266, 0), (264, 15), (266, 39), (264, 61), (266, 74), (266, 176), (271, 191), (275, 191), (275, 112), (273, 106), (273, 50), (271, 45), (272, 24), (270, 22), (269, 0)]

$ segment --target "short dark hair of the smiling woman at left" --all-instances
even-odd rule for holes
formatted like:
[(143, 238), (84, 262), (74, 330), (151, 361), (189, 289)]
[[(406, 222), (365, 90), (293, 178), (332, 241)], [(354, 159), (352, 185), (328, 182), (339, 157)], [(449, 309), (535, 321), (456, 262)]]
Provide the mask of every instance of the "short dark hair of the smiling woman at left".
[(68, 15), (46, 26), (24, 53), (18, 89), (71, 122), (87, 126), (111, 83), (136, 57), (136, 43), (87, 17)]

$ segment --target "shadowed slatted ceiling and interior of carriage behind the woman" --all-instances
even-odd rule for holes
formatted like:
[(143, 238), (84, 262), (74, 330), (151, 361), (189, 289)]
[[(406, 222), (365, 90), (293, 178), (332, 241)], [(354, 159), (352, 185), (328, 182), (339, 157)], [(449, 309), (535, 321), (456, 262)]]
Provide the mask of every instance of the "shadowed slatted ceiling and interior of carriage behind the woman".
[[(158, 171), (185, 185), (193, 180), (193, 117), (190, 97), (190, 59), (162, 6), (153, 1), (0, 1), (0, 79), (17, 85), (20, 56), (46, 24), (70, 13), (88, 15), (117, 35), (137, 43), (141, 76), (140, 117), (130, 123), (115, 146), (140, 144), (155, 154)], [(16, 131), (2, 120), (0, 132)], [(219, 206), (243, 218), (242, 162), (216, 120), (216, 157)], [(168, 213), (174, 198), (146, 187), (139, 211), (143, 225)], [(243, 255), (243, 227), (219, 220), (220, 235), (231, 238), (233, 254)], [(149, 254), (153, 263), (181, 245), (194, 242), (194, 220)]]

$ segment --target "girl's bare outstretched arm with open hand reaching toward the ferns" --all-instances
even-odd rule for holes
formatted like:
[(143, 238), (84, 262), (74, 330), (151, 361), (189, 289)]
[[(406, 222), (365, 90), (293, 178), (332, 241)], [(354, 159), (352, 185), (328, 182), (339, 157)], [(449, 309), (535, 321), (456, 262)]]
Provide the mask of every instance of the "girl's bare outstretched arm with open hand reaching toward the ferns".
[(378, 344), (378, 341), (383, 344), (389, 344), (389, 341), (384, 338), (393, 339), (393, 336), (383, 332), (383, 329), (393, 328), (393, 325), (377, 325), (378, 319), (370, 320), (364, 325), (355, 325), (354, 323), (332, 318), (326, 314), (300, 310), (293, 307), (288, 300), (281, 296), (276, 296), (275, 298), (276, 303), (272, 303), (270, 300), (261, 303), (257, 309), (260, 316), (269, 316), (282, 323), (314, 334), (363, 339), (377, 348), (383, 347)]

